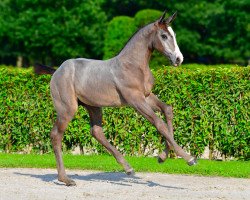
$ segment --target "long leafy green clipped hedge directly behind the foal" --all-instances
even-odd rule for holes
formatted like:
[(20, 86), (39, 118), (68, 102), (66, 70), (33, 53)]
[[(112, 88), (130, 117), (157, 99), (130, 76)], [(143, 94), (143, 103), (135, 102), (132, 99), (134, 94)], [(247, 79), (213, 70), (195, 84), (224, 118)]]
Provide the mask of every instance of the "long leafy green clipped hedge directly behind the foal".
[[(174, 107), (177, 142), (200, 156), (206, 146), (221, 154), (250, 156), (250, 67), (168, 68), (154, 72), (154, 92)], [(50, 76), (31, 70), (0, 68), (0, 150), (50, 152), (49, 133), (56, 114)], [(104, 131), (127, 155), (150, 155), (163, 148), (156, 129), (131, 108), (105, 108)], [(89, 117), (80, 108), (64, 136), (64, 149), (105, 150), (89, 133)]]

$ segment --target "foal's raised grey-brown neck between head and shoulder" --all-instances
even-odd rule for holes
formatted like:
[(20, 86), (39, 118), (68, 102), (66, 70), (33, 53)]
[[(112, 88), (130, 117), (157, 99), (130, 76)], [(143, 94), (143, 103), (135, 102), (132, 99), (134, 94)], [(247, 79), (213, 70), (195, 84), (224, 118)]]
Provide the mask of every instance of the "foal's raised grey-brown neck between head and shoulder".
[[(148, 25), (149, 26), (149, 25)], [(152, 54), (151, 27), (138, 31), (119, 53), (119, 60), (131, 67), (148, 68)]]

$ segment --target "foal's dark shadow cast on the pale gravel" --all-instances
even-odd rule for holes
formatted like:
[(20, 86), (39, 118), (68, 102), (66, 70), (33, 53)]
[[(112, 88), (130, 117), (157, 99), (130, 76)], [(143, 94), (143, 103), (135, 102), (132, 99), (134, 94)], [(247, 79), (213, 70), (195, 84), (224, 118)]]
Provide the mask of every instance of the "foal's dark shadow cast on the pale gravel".
[[(15, 172), (14, 174), (20, 175), (20, 176), (29, 176), (31, 178), (40, 179), (44, 182), (54, 182), (54, 184), (56, 185), (64, 186), (64, 183), (57, 181), (57, 174), (37, 175), (37, 174), (28, 174), (28, 173), (20, 173), (20, 172)], [(80, 180), (80, 181), (86, 181), (86, 182), (89, 182), (89, 181), (105, 182), (105, 183), (110, 183), (114, 185), (122, 185), (122, 186), (133, 186), (134, 184), (139, 184), (139, 185), (145, 185), (147, 187), (163, 187), (163, 188), (176, 189), (176, 190), (186, 189), (182, 187), (162, 185), (160, 183), (145, 180), (136, 175), (128, 176), (125, 173), (121, 173), (121, 172), (96, 172), (96, 173), (91, 173), (87, 175), (74, 174), (74, 175), (69, 175), (69, 177), (72, 178), (73, 180)]]

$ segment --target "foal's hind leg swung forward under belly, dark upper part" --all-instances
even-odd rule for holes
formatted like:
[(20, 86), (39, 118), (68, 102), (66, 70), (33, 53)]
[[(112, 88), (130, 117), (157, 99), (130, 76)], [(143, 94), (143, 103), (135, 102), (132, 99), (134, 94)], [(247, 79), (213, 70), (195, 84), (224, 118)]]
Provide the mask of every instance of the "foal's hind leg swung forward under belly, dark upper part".
[(122, 165), (125, 172), (128, 175), (134, 174), (134, 170), (130, 167), (127, 161), (124, 159), (123, 155), (112, 146), (106, 139), (102, 130), (102, 110), (98, 107), (85, 106), (89, 112), (91, 134), (100, 142), (117, 160), (119, 164)]

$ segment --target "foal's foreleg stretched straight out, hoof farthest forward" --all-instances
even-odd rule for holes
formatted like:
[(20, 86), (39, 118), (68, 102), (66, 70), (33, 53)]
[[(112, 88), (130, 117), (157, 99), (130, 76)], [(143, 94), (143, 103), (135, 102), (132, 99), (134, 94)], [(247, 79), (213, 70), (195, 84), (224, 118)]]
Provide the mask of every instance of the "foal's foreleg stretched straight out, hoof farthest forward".
[[(129, 93), (131, 94), (131, 92)], [(170, 135), (165, 122), (159, 118), (147, 103), (145, 96), (141, 93), (130, 95), (128, 98), (128, 103), (133, 106), (139, 113), (141, 113), (146, 119), (148, 119), (156, 129), (165, 137), (169, 144), (173, 147), (175, 153), (184, 158), (189, 165), (196, 164), (196, 159), (189, 154), (187, 154)]]

